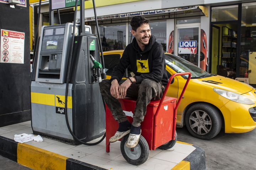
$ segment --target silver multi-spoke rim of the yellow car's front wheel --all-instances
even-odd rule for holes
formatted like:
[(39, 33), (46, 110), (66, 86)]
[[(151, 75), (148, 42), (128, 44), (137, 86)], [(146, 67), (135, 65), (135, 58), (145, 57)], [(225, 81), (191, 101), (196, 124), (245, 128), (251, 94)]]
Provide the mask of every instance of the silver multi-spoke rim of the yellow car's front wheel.
[(190, 127), (198, 135), (206, 135), (212, 128), (212, 120), (209, 115), (201, 110), (196, 110), (190, 115)]

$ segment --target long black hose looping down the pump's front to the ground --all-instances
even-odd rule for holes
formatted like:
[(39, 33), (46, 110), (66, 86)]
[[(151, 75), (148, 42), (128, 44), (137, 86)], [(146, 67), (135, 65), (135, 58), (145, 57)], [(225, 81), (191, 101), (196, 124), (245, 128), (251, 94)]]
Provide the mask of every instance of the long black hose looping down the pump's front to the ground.
[[(81, 1), (81, 0), (80, 0)], [(82, 1), (81, 3), (84, 3), (84, 1)], [(66, 73), (66, 91), (65, 91), (65, 108), (64, 108), (64, 113), (65, 113), (65, 119), (66, 119), (66, 124), (68, 126), (68, 130), (70, 132), (70, 134), (75, 138), (75, 140), (77, 140), (78, 142), (84, 144), (84, 145), (97, 145), (98, 143), (102, 142), (103, 139), (106, 136), (106, 132), (103, 135), (103, 137), (101, 138), (101, 140), (95, 142), (95, 143), (87, 143), (87, 142), (83, 142), (81, 141), (78, 137), (75, 136), (75, 134), (72, 132), (70, 125), (69, 125), (69, 121), (68, 121), (68, 109), (67, 109), (67, 100), (68, 100), (68, 86), (69, 86), (69, 77), (70, 77), (70, 70), (71, 70), (71, 61), (72, 61), (72, 53), (73, 53), (73, 45), (74, 45), (74, 38), (75, 38), (75, 28), (76, 28), (76, 12), (77, 12), (77, 4), (78, 4), (78, 0), (75, 1), (75, 12), (74, 12), (74, 25), (73, 25), (73, 35), (72, 35), (72, 41), (71, 41), (71, 46), (70, 46), (70, 53), (69, 53), (69, 60), (68, 60), (68, 72)], [(80, 12), (82, 12), (83, 9), (80, 9)], [(80, 18), (80, 22), (84, 22), (84, 19)]]

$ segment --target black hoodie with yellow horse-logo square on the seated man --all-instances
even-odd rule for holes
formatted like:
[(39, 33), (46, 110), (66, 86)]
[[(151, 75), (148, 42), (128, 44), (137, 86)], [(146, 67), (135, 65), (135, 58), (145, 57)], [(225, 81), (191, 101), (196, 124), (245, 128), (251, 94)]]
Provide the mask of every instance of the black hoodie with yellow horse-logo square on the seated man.
[(137, 83), (141, 83), (144, 79), (153, 80), (157, 83), (162, 82), (163, 85), (168, 82), (164, 50), (153, 35), (151, 35), (144, 51), (140, 50), (135, 38), (132, 43), (126, 46), (110, 80), (117, 79), (120, 81), (129, 65), (135, 74), (134, 78)]

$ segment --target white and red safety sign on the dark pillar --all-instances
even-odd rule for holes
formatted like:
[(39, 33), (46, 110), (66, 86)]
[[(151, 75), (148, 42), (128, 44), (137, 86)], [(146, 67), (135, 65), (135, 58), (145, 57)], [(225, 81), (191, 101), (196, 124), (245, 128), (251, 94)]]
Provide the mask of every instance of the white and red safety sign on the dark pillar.
[(25, 33), (1, 29), (0, 63), (24, 64)]

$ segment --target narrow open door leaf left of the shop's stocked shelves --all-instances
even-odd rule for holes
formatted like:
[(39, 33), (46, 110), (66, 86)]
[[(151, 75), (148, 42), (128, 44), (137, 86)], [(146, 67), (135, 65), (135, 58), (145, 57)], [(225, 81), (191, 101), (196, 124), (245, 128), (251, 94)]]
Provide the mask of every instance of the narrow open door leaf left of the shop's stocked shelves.
[(212, 46), (210, 51), (210, 60), (212, 63), (210, 73), (218, 74), (219, 73), (219, 65), (220, 65), (220, 27), (212, 25), (211, 26), (211, 33), (212, 33)]

